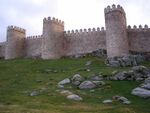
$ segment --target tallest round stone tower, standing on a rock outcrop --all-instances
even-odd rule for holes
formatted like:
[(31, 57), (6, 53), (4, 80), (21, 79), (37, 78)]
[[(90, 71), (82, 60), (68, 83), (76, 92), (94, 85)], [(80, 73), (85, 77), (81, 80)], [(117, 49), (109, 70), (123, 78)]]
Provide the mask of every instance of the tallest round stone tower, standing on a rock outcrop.
[(106, 25), (106, 47), (107, 56), (128, 55), (128, 39), (126, 30), (126, 14), (124, 9), (118, 5), (108, 6), (104, 10)]

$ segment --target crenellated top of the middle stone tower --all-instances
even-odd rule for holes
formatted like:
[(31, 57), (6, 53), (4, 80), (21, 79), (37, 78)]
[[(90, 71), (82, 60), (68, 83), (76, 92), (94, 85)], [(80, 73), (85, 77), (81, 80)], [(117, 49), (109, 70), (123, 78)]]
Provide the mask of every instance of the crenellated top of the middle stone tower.
[(57, 18), (51, 18), (51, 17), (47, 17), (47, 18), (44, 18), (43, 19), (43, 22), (46, 23), (46, 22), (50, 22), (50, 23), (54, 23), (54, 24), (57, 24), (57, 25), (61, 25), (61, 26), (64, 26), (64, 21), (61, 21)]

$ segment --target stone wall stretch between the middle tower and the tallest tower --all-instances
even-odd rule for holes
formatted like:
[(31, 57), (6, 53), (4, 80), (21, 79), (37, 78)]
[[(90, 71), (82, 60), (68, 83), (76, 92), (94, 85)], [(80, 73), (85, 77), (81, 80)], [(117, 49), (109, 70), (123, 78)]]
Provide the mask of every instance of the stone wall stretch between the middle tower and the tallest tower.
[(106, 49), (106, 33), (99, 28), (97, 31), (80, 30), (65, 34), (65, 56), (90, 53), (97, 49)]

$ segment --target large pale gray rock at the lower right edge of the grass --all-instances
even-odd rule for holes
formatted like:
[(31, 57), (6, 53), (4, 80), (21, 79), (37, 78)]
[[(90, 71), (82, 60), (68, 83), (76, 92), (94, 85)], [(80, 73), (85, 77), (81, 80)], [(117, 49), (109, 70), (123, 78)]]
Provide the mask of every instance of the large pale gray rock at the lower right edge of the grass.
[(131, 94), (139, 96), (139, 97), (143, 97), (143, 98), (148, 98), (148, 97), (150, 97), (150, 90), (137, 87), (132, 90)]

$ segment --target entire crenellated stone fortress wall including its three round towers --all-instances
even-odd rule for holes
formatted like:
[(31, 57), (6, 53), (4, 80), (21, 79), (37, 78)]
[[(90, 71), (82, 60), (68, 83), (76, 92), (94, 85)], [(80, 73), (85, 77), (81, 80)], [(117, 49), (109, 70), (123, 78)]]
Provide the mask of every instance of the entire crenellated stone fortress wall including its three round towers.
[(129, 51), (150, 52), (150, 28), (127, 26), (126, 14), (120, 5), (104, 9), (105, 28), (64, 31), (64, 22), (56, 18), (43, 19), (43, 33), (26, 36), (26, 30), (8, 26), (7, 41), (0, 43), (0, 57), (55, 59), (107, 50), (108, 57), (128, 55)]

